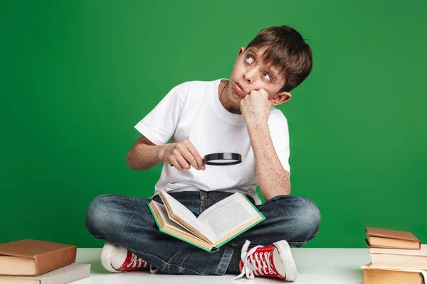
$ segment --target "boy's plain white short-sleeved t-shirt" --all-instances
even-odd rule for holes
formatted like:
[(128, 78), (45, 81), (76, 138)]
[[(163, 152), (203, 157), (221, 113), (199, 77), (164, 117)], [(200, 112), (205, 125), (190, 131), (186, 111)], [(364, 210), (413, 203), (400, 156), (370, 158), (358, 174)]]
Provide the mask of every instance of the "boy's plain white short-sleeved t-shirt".
[[(152, 111), (135, 125), (156, 145), (188, 139), (201, 157), (210, 153), (240, 153), (237, 165), (206, 165), (206, 170), (177, 170), (164, 163), (154, 195), (167, 192), (221, 190), (250, 195), (261, 204), (255, 189), (258, 178), (255, 158), (245, 119), (227, 111), (218, 97), (221, 80), (190, 81), (178, 84)], [(268, 129), (283, 168), (290, 172), (288, 121), (275, 107), (270, 110)]]

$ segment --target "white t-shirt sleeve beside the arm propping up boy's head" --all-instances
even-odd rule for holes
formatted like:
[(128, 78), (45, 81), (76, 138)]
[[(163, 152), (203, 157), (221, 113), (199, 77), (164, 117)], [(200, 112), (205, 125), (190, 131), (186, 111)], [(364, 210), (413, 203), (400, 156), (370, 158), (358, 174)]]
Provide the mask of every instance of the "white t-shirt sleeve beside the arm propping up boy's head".
[(280, 121), (276, 121), (275, 124), (270, 128), (270, 136), (273, 141), (273, 146), (275, 148), (276, 153), (278, 154), (278, 158), (280, 163), (282, 163), (283, 168), (288, 171), (290, 175), (290, 165), (289, 165), (289, 128), (288, 128), (288, 120), (280, 119)]

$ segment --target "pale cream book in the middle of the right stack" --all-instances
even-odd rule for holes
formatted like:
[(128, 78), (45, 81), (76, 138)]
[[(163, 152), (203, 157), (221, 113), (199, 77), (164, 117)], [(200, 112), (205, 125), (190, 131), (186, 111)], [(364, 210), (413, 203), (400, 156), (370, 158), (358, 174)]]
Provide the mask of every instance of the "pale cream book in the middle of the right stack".
[(377, 249), (368, 250), (373, 266), (410, 267), (427, 270), (427, 245), (421, 249)]

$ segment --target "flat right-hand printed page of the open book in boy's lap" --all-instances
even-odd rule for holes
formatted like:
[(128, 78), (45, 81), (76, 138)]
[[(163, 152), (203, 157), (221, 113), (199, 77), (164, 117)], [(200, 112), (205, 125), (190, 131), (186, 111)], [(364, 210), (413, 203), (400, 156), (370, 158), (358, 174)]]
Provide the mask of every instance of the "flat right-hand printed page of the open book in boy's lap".
[(236, 192), (206, 209), (198, 219), (206, 231), (214, 234), (216, 241), (258, 216), (252, 204)]

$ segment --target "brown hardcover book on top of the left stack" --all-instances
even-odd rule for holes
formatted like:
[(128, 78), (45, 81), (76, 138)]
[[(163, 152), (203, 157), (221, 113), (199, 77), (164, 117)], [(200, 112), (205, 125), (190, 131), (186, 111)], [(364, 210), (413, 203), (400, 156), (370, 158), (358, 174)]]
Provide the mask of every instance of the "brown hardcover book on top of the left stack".
[(23, 239), (0, 244), (0, 275), (38, 276), (75, 262), (77, 247)]

